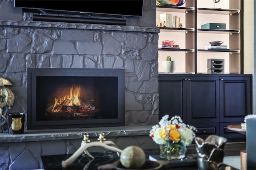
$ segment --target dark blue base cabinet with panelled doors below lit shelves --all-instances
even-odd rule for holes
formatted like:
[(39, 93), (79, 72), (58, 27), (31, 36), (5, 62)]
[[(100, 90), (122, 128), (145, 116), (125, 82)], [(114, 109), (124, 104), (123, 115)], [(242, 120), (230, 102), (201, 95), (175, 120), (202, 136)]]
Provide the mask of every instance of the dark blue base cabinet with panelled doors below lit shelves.
[(159, 119), (179, 115), (196, 135), (245, 138), (230, 132), (252, 114), (252, 74), (159, 74)]

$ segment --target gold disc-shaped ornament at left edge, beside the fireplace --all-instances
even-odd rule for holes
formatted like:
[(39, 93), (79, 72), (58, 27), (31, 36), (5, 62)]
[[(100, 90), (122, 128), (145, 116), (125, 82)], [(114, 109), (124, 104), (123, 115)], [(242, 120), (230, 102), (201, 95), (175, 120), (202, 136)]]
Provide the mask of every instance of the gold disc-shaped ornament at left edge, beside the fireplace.
[(0, 77), (0, 117), (4, 119), (3, 122), (1, 122), (0, 132), (3, 132), (2, 127), (7, 122), (6, 117), (4, 116), (4, 107), (8, 106), (8, 109), (11, 109), (11, 106), (13, 106), (14, 103), (14, 93), (10, 88), (7, 88), (5, 86), (12, 86), (12, 83), (7, 80), (6, 78)]

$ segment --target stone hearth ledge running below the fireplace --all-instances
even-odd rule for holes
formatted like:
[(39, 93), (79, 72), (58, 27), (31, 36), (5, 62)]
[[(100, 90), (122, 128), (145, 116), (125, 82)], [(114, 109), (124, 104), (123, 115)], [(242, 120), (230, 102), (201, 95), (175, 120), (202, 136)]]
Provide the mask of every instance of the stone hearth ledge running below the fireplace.
[(98, 137), (99, 133), (104, 133), (104, 137), (143, 136), (149, 135), (149, 131), (151, 128), (152, 125), (27, 130), (24, 131), (23, 134), (17, 135), (11, 135), (8, 134), (8, 132), (4, 132), (0, 133), (0, 143), (82, 139), (85, 133), (87, 133), (90, 138)]

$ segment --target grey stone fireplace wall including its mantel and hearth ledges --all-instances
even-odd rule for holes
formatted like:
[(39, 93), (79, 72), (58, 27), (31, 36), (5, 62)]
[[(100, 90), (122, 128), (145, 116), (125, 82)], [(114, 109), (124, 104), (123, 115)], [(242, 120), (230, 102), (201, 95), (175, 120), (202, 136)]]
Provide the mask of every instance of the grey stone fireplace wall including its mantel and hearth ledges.
[(158, 122), (159, 29), (154, 27), (154, 0), (145, 0), (144, 16), (127, 18), (127, 26), (31, 21), (29, 14), (12, 8), (12, 0), (0, 3), (0, 76), (10, 80), (15, 94), (12, 110), (5, 111), (26, 112), (28, 67), (125, 68), (126, 86), (125, 127), (51, 131), (25, 127), (21, 135), (5, 131), (0, 134), (1, 170), (43, 168), (40, 156), (75, 152), (84, 133), (96, 141), (103, 132), (120, 149), (157, 147), (148, 135)]

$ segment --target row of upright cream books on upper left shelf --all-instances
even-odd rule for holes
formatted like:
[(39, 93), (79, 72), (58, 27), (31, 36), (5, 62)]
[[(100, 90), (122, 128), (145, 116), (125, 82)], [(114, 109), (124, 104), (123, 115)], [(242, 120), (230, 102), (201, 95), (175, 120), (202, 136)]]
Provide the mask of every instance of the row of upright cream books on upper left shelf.
[(163, 13), (159, 15), (162, 24), (170, 28), (179, 28), (180, 27), (180, 17), (174, 16), (172, 14)]

